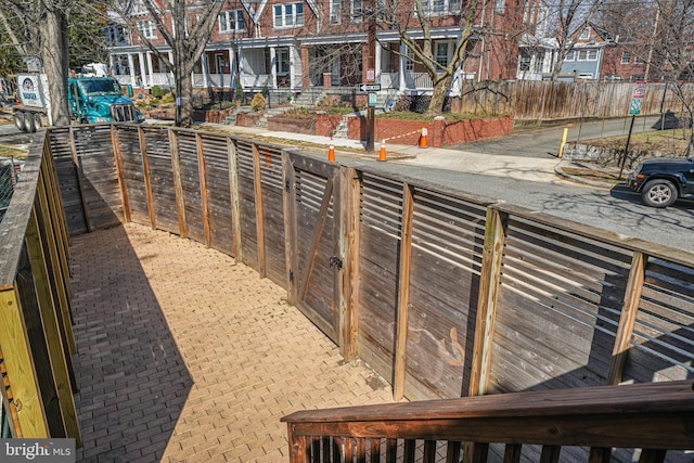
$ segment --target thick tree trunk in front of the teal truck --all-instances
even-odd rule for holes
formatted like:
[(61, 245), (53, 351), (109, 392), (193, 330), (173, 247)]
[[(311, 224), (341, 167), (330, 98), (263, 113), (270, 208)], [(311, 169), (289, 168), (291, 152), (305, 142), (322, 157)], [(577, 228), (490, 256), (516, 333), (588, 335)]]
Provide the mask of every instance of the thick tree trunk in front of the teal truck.
[(51, 95), (52, 123), (54, 126), (69, 126), (67, 17), (60, 9), (54, 8), (46, 11), (46, 23), (41, 28), (41, 35), (43, 38), (41, 60)]

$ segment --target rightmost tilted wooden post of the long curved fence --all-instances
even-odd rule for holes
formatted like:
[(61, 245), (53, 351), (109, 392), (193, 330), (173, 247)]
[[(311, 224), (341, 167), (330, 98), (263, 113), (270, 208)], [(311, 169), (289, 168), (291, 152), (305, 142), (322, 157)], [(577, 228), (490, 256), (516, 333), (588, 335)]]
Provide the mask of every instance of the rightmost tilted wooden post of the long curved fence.
[(615, 347), (612, 352), (612, 361), (609, 362), (609, 372), (607, 373), (607, 384), (619, 384), (627, 362), (627, 352), (629, 351), (629, 342), (633, 333), (633, 325), (637, 321), (639, 311), (639, 301), (641, 300), (641, 292), (643, 291), (643, 281), (646, 273), (647, 256), (643, 253), (633, 253), (631, 260), (631, 269), (629, 270), (629, 280), (625, 290), (625, 305), (619, 317), (619, 327), (615, 337)]

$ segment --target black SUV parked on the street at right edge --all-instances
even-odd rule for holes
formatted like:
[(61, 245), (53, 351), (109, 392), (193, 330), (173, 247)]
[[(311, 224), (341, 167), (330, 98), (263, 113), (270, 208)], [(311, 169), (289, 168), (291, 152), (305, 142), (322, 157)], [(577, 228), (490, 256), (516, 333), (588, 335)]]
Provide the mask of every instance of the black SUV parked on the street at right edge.
[(629, 188), (653, 207), (668, 207), (678, 197), (694, 197), (694, 157), (643, 160), (629, 176)]

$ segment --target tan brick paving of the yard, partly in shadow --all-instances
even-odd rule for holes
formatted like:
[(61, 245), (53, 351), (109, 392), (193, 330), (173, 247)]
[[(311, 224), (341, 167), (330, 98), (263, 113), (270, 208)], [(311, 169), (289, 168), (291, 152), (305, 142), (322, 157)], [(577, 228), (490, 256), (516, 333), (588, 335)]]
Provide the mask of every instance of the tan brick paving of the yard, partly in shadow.
[(393, 401), (270, 280), (125, 224), (70, 242), (85, 462), (284, 462), (296, 410)]

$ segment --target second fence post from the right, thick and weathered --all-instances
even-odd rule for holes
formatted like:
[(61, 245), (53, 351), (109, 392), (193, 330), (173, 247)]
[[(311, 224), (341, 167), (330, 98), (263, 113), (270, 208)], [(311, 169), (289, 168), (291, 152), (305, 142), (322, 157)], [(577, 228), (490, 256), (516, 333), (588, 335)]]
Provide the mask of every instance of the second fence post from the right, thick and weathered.
[(470, 380), (470, 395), (481, 396), (487, 389), (489, 356), (497, 314), (501, 260), (505, 239), (507, 214), (493, 208), (487, 209), (485, 224), (485, 247), (481, 259), (477, 320), (475, 323), (475, 344)]

